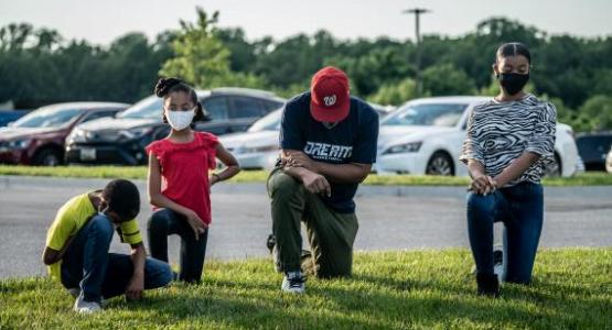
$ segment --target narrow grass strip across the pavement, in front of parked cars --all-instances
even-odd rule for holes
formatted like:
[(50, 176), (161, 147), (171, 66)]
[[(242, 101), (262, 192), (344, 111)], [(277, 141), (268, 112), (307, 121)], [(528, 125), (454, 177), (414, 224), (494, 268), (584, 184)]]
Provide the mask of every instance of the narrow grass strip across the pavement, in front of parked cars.
[[(0, 165), (0, 175), (26, 175), (76, 178), (129, 178), (146, 179), (144, 166), (12, 166)], [(234, 183), (264, 183), (266, 170), (243, 170), (232, 179)], [(417, 175), (369, 175), (366, 185), (377, 186), (466, 186), (468, 177), (417, 176)], [(547, 186), (601, 186), (612, 185), (612, 174), (582, 173), (570, 178), (545, 178)]]

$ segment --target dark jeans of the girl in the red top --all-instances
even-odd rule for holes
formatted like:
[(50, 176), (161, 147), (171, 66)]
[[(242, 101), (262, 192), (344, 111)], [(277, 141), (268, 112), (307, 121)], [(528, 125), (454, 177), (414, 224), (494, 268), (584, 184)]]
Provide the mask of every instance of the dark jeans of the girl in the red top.
[(181, 270), (179, 279), (189, 283), (201, 282), (208, 229), (200, 234), (198, 240), (195, 240), (193, 229), (189, 226), (183, 215), (170, 209), (160, 209), (149, 219), (147, 234), (149, 237), (151, 256), (164, 262), (168, 262), (168, 235), (178, 234), (181, 237)]

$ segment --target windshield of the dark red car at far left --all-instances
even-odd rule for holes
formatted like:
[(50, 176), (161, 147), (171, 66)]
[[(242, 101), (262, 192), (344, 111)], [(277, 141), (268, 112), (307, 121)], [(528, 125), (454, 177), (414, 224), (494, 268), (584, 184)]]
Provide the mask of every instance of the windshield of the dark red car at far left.
[(32, 111), (15, 121), (14, 128), (61, 128), (73, 121), (82, 109), (45, 107)]

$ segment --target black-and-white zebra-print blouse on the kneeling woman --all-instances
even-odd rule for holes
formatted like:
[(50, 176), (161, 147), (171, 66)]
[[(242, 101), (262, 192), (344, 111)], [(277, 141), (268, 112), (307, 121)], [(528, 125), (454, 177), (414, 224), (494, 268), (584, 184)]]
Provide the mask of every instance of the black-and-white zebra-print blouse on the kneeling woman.
[(474, 107), (468, 121), (468, 136), (460, 161), (475, 160), (484, 165), (486, 175), (502, 173), (524, 152), (540, 158), (520, 177), (507, 184), (539, 183), (544, 165), (554, 160), (557, 110), (534, 95), (512, 102), (494, 99)]

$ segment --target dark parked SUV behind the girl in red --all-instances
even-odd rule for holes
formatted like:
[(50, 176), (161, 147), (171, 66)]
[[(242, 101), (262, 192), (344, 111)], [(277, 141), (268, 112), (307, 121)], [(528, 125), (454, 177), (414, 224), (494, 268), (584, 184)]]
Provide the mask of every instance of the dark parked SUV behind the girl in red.
[[(255, 89), (217, 88), (196, 92), (210, 121), (198, 122), (195, 130), (216, 135), (244, 132), (257, 119), (284, 103), (271, 92)], [(144, 147), (169, 132), (170, 127), (162, 122), (162, 99), (150, 96), (116, 118), (77, 127), (66, 139), (66, 162), (146, 164)]]

